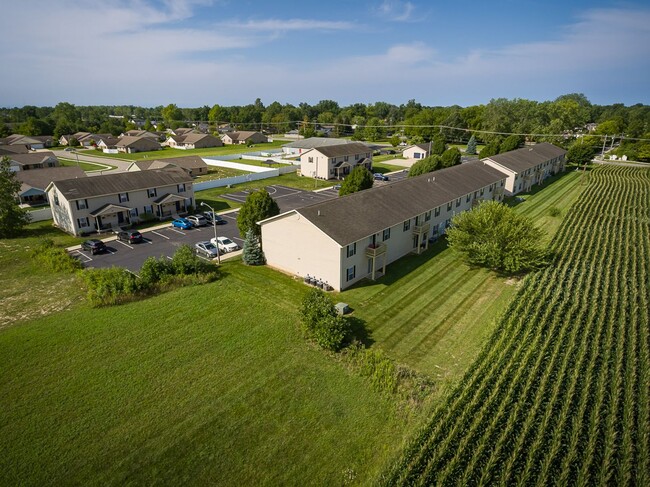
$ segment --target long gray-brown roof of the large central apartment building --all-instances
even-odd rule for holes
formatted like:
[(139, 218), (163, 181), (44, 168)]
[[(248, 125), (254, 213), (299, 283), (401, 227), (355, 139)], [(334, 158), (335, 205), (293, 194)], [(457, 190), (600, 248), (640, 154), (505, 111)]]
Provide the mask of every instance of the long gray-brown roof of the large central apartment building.
[(505, 178), (472, 161), (295, 211), (345, 246)]

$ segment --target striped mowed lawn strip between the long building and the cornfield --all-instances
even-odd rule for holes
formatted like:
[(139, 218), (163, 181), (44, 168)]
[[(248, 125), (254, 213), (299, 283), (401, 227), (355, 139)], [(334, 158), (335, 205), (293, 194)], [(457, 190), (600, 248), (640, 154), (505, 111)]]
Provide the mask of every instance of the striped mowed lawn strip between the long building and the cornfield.
[[(546, 230), (548, 240), (584, 188), (581, 173), (555, 179), (516, 206)], [(561, 214), (551, 216), (552, 207)], [(470, 269), (441, 241), (389, 265), (376, 282), (342, 292), (340, 300), (356, 310), (389, 355), (449, 385), (472, 363), (517, 287), (516, 280)]]

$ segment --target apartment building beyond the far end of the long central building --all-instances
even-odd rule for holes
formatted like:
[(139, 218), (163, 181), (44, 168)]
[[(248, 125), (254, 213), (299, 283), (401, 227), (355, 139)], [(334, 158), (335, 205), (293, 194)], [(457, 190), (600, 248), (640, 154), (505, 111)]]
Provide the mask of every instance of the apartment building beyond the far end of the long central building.
[(566, 151), (548, 142), (535, 144), (496, 156), (490, 156), (482, 161), (508, 176), (506, 194), (514, 195), (522, 191), (530, 191), (534, 184), (564, 171)]

